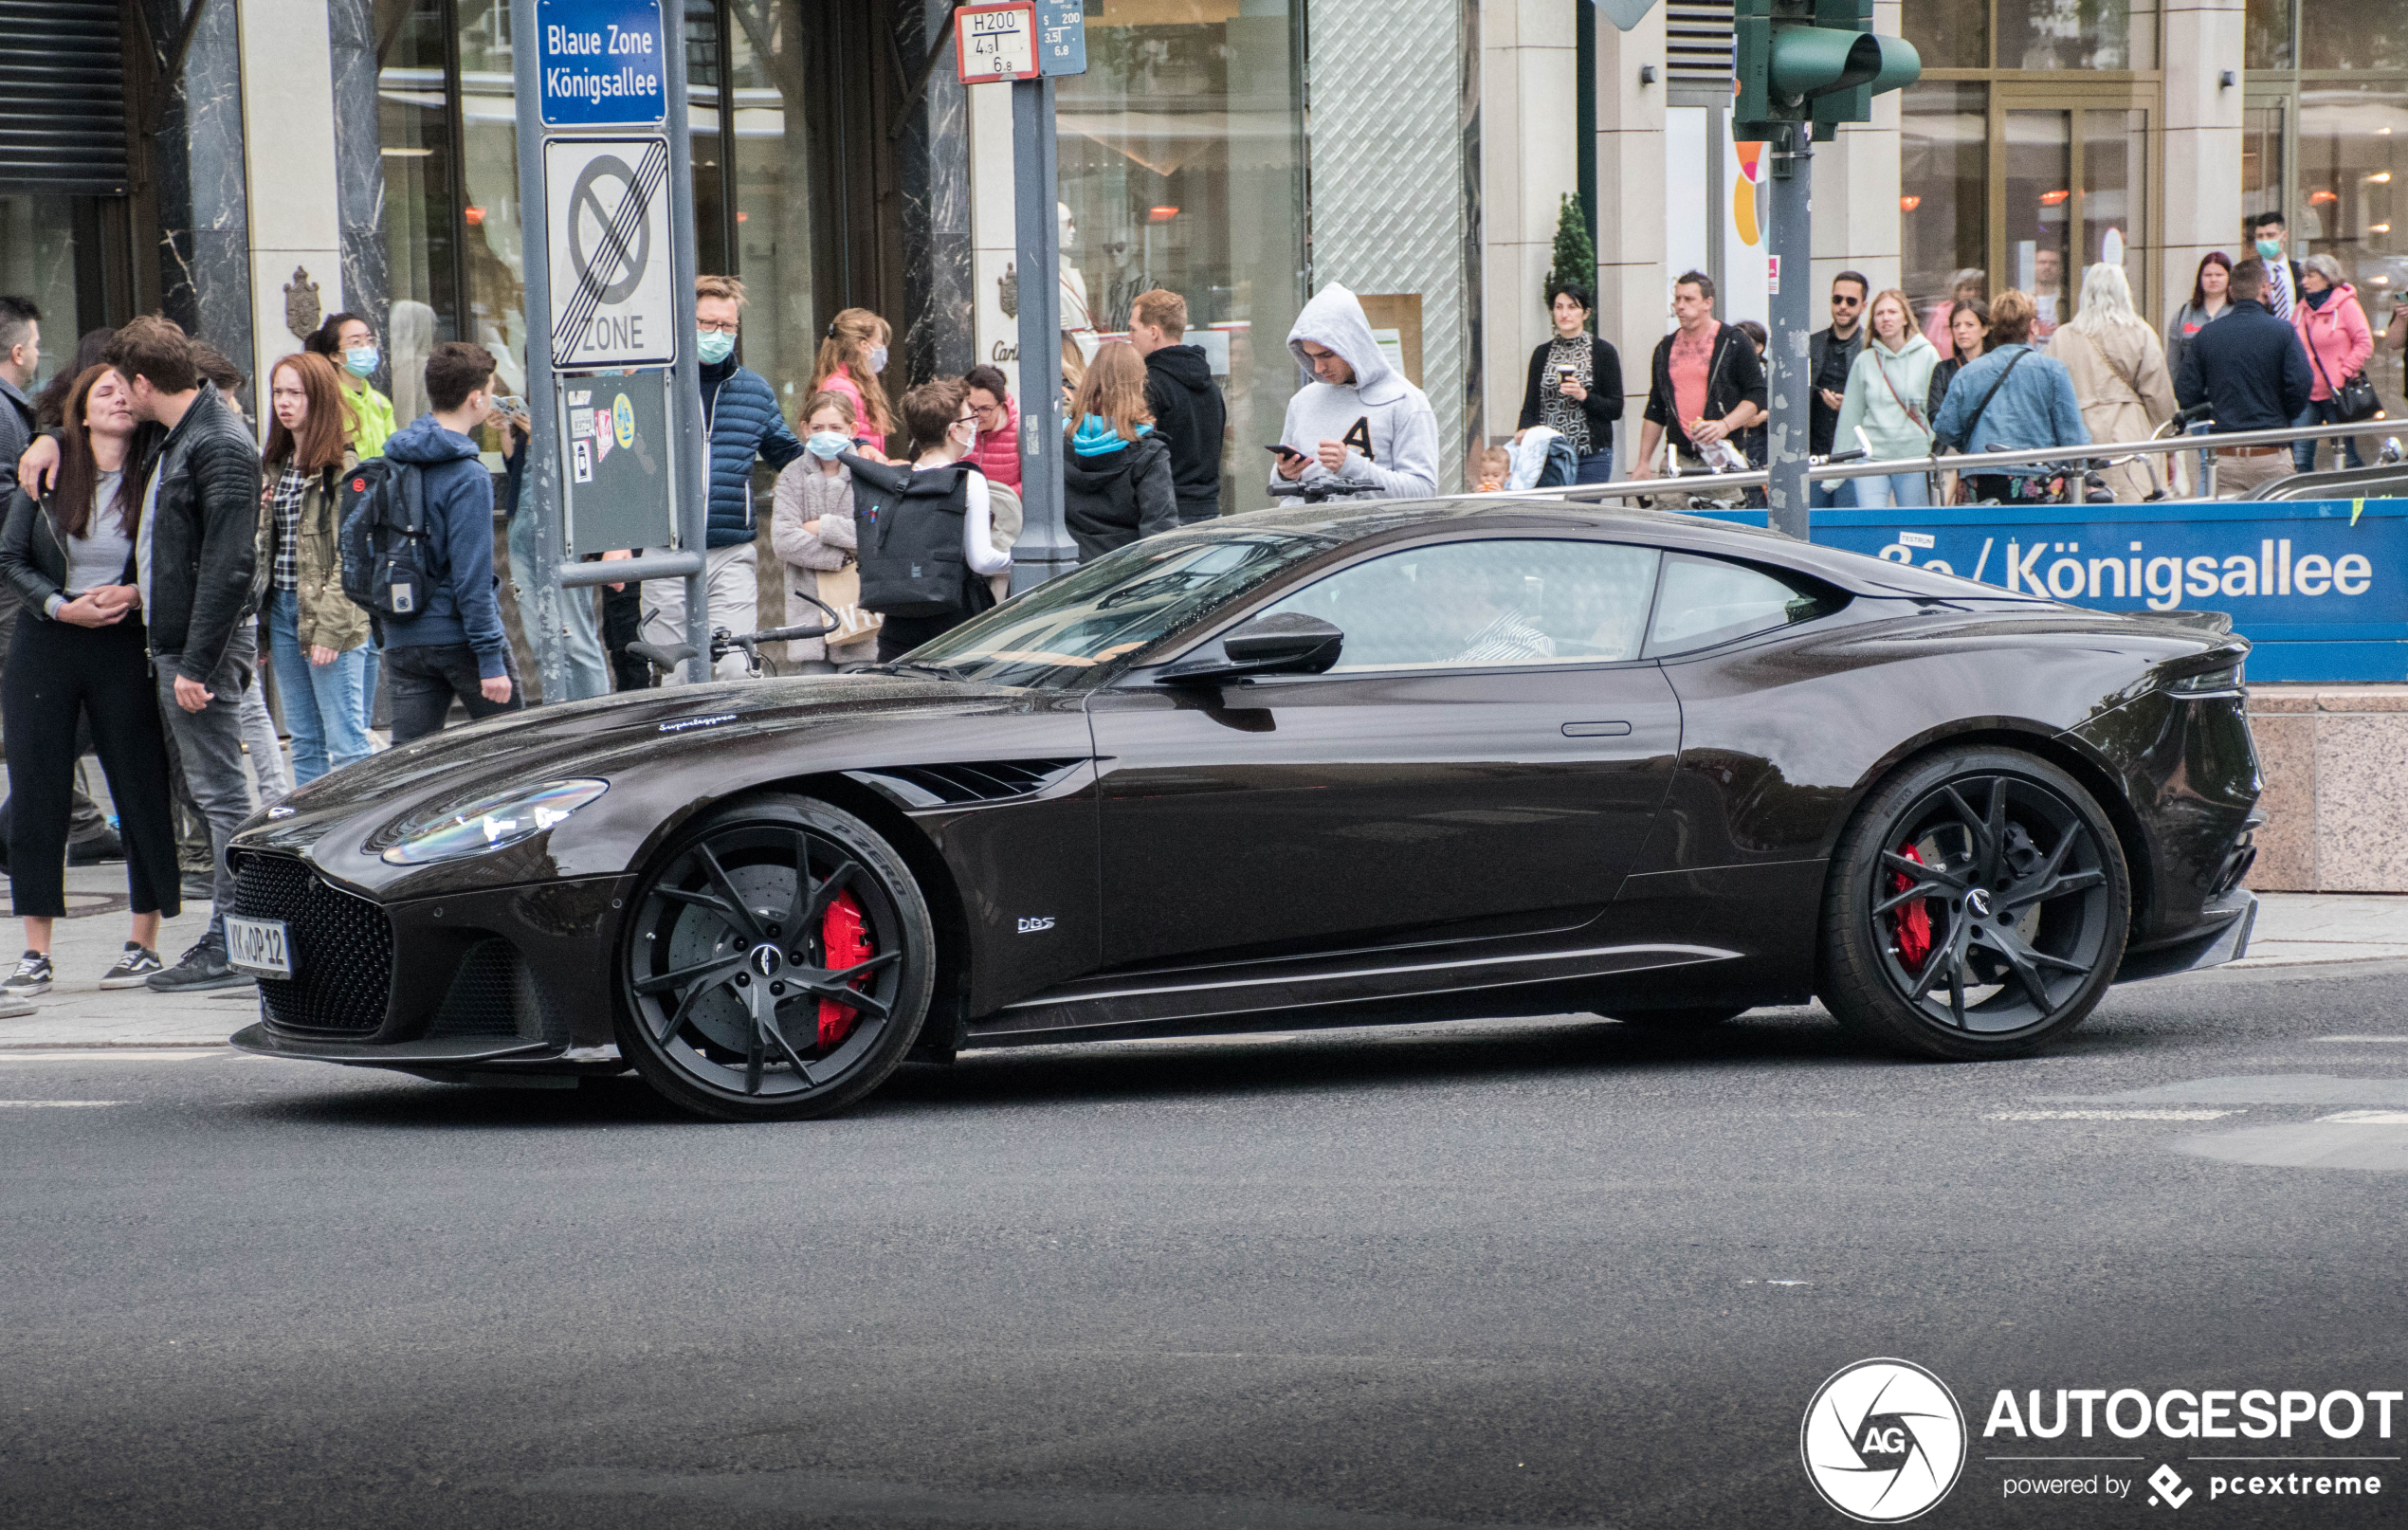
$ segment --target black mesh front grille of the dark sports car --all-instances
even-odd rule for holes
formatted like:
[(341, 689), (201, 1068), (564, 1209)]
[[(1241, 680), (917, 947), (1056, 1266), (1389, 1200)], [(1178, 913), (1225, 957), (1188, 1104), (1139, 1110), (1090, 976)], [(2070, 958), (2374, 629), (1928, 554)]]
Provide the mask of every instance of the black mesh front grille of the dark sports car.
[(294, 976), (260, 978), (267, 1019), (287, 1031), (366, 1034), (385, 1024), (393, 925), (368, 899), (327, 887), (289, 855), (243, 855), (234, 913), (284, 920)]

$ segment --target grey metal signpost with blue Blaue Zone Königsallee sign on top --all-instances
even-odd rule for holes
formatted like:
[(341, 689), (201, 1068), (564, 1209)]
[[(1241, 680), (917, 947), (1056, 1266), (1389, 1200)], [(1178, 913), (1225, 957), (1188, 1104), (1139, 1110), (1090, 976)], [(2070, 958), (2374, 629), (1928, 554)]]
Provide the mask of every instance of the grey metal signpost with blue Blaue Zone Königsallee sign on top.
[[(662, 0), (510, 0), (510, 36), (535, 417), (518, 513), (535, 516), (527, 626), (544, 699), (568, 684), (563, 585), (684, 578), (698, 655), (686, 675), (706, 679), (708, 458), (694, 345), (681, 340), (694, 335), (681, 34), (665, 24)], [(626, 561), (563, 561), (563, 549), (573, 559), (672, 542)]]

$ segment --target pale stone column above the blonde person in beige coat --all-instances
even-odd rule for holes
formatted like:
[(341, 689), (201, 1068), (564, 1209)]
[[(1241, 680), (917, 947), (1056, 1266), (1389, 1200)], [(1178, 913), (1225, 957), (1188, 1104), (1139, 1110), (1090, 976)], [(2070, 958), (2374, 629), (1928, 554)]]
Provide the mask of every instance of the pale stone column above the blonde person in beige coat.
[[(2232, 84), (2223, 72), (2232, 70)], [(2242, 0), (2167, 0), (2165, 229), (2155, 313), (2162, 328), (2191, 296), (2199, 258), (2242, 251)], [(2141, 272), (2129, 272), (2138, 284)], [(2141, 296), (2141, 294), (2133, 294)]]

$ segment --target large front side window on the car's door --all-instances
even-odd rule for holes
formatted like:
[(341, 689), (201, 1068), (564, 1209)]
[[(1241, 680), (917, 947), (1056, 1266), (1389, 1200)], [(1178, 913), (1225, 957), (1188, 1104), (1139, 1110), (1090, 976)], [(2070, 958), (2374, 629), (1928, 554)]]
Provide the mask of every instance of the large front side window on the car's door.
[(1611, 542), (1447, 542), (1341, 569), (1271, 612), (1346, 634), (1346, 670), (1459, 670), (1640, 655), (1657, 552)]

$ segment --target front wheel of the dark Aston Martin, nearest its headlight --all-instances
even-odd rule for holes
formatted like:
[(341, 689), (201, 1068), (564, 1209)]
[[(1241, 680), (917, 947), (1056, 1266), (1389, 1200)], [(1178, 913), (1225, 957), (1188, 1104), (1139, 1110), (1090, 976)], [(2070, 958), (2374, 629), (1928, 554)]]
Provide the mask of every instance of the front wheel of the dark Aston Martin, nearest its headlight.
[(869, 824), (809, 798), (708, 814), (633, 899), (619, 1051), (720, 1120), (826, 1116), (901, 1067), (937, 932)]

